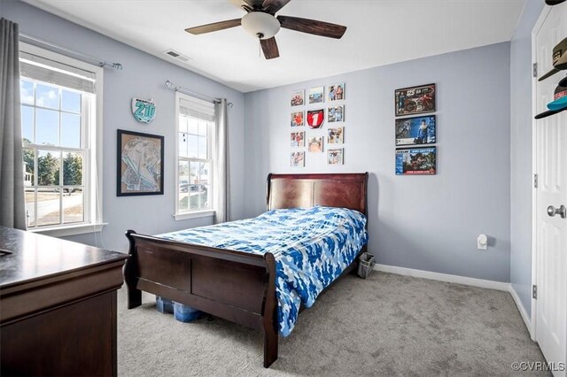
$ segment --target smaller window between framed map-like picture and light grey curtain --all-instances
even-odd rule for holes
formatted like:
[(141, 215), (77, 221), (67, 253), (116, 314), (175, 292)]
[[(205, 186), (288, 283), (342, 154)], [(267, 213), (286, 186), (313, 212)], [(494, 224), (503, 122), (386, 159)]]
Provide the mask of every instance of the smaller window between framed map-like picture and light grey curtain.
[(177, 189), (175, 219), (214, 214), (214, 104), (175, 94)]

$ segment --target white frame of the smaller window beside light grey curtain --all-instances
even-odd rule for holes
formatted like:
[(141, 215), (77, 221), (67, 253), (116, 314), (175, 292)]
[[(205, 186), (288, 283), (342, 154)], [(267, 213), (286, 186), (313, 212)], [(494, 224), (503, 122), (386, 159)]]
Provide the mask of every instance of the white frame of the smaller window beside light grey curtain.
[[(183, 220), (183, 219), (197, 219), (197, 218), (203, 218), (203, 217), (212, 217), (214, 216), (214, 214), (216, 213), (216, 203), (214, 201), (214, 193), (216, 192), (216, 185), (215, 185), (215, 180), (214, 180), (214, 169), (216, 168), (216, 163), (214, 161), (214, 156), (215, 156), (215, 152), (214, 152), (214, 138), (216, 137), (215, 132), (214, 132), (214, 126), (211, 127), (211, 129), (209, 130), (210, 132), (210, 137), (207, 137), (207, 149), (210, 150), (210, 161), (211, 161), (211, 166), (210, 166), (210, 170), (209, 170), (209, 201), (210, 203), (212, 203), (211, 208), (210, 209), (206, 209), (206, 210), (197, 210), (197, 211), (183, 211), (181, 212), (179, 210), (179, 160), (180, 160), (180, 156), (179, 156), (179, 117), (181, 115), (181, 112), (179, 111), (180, 108), (180, 102), (182, 99), (185, 99), (186, 101), (189, 102), (203, 102), (206, 103), (206, 101), (200, 100), (194, 96), (188, 96), (188, 95), (184, 95), (183, 93), (180, 92), (175, 92), (175, 213), (174, 213), (174, 218), (175, 220)], [(191, 160), (191, 158), (190, 158)], [(196, 160), (198, 160), (198, 158), (196, 158)]]

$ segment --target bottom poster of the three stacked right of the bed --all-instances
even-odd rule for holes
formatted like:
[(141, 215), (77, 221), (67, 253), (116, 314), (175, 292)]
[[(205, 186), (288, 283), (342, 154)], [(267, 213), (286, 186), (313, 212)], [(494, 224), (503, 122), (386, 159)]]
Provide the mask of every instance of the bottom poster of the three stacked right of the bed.
[(396, 175), (435, 175), (437, 147), (396, 150)]

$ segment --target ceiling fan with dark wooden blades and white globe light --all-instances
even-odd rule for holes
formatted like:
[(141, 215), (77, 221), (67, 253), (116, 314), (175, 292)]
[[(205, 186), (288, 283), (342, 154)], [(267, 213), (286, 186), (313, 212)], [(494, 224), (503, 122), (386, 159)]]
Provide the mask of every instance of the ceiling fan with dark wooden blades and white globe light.
[(345, 34), (346, 27), (329, 22), (317, 21), (315, 19), (300, 19), (299, 17), (291, 16), (276, 17), (276, 12), (279, 12), (290, 1), (230, 0), (232, 4), (237, 5), (246, 12), (242, 19), (228, 19), (199, 27), (189, 27), (185, 31), (192, 35), (200, 35), (242, 25), (245, 31), (260, 39), (262, 51), (267, 59), (280, 56), (276, 37), (274, 36), (280, 30), (280, 27), (336, 39), (340, 39)]

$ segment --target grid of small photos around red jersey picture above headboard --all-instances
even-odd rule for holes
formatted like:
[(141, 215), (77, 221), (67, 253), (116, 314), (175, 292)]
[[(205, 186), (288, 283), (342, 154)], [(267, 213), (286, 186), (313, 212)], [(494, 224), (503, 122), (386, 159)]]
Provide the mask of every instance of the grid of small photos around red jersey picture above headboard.
[(306, 154), (326, 153), (328, 165), (344, 164), (345, 83), (291, 91), (291, 166)]

